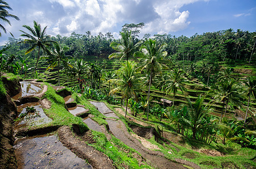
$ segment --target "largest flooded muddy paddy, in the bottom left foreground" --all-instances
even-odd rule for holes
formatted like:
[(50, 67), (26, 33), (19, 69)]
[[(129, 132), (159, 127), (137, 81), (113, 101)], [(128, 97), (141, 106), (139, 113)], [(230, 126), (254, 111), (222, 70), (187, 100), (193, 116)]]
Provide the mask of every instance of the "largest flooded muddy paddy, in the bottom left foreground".
[(15, 141), (18, 168), (92, 168), (62, 145), (57, 135)]

